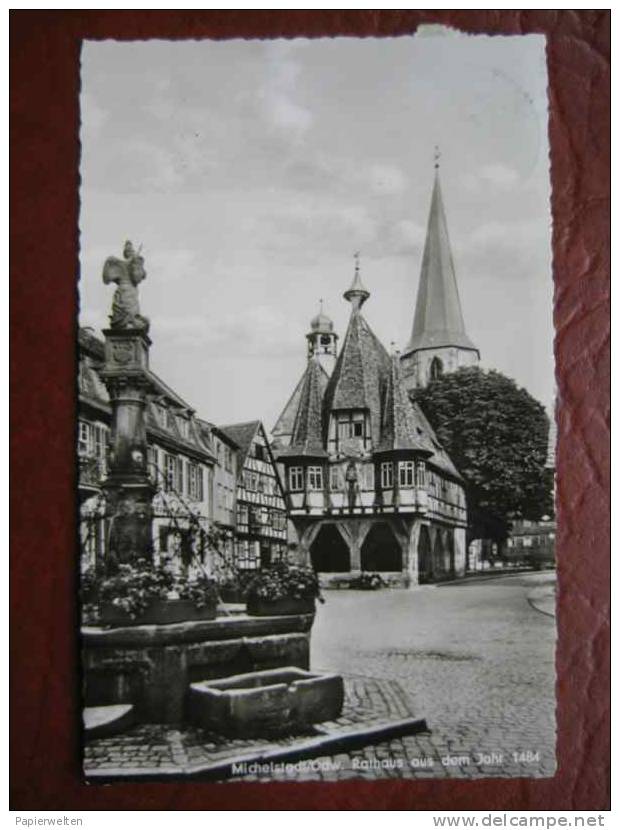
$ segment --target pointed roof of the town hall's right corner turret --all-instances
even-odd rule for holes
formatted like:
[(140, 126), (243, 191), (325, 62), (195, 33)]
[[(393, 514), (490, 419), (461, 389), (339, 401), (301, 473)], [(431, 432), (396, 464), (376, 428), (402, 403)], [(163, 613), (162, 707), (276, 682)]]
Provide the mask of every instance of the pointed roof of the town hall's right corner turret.
[(392, 356), (382, 397), (381, 441), (376, 451), (415, 450), (432, 455), (434, 448), (402, 385), (399, 355)]

